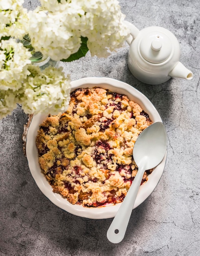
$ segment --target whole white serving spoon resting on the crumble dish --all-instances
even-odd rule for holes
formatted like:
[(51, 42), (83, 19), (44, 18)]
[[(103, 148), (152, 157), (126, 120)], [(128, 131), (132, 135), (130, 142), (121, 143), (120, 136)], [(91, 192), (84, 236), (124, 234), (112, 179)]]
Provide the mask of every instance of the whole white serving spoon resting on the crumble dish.
[(138, 172), (107, 231), (110, 242), (119, 243), (124, 238), (143, 174), (160, 164), (166, 150), (167, 134), (163, 123), (156, 122), (148, 126), (138, 136), (133, 149)]

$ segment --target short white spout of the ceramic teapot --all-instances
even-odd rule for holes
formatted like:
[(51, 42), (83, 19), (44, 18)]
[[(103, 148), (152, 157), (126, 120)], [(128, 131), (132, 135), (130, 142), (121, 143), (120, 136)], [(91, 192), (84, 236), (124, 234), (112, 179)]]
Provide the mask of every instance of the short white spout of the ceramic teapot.
[(173, 70), (169, 72), (169, 76), (191, 80), (193, 73), (178, 61)]

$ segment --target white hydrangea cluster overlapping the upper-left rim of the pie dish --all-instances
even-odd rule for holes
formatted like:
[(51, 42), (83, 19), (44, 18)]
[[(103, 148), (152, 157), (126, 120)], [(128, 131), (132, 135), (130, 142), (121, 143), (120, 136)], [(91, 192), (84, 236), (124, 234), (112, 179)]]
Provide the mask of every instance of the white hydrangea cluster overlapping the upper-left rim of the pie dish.
[(70, 101), (70, 77), (64, 76), (62, 67), (56, 69), (29, 65), (31, 74), (24, 80), (24, 93), (20, 97), (22, 109), (27, 114), (40, 112), (57, 115), (67, 110)]

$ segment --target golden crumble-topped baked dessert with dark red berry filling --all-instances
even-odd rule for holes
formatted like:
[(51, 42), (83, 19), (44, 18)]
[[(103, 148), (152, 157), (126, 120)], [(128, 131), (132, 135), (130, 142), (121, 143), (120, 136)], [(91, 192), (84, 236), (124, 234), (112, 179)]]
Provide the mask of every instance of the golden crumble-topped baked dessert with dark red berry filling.
[[(152, 121), (126, 95), (79, 88), (68, 110), (49, 115), (36, 137), (42, 172), (72, 204), (99, 207), (123, 201), (137, 166), (132, 150)], [(152, 170), (145, 171), (143, 182)]]

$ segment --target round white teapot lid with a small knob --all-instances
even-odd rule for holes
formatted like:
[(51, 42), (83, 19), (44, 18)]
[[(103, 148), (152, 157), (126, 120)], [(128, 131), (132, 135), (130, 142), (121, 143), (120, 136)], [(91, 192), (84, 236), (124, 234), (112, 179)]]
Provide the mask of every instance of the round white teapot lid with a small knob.
[(169, 36), (161, 31), (150, 31), (140, 43), (140, 53), (146, 61), (162, 63), (169, 58), (172, 44)]

